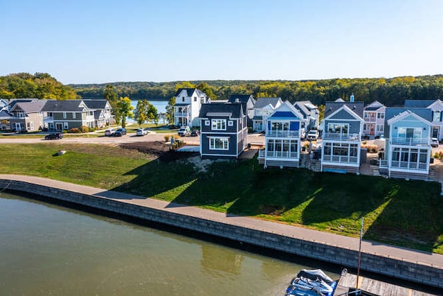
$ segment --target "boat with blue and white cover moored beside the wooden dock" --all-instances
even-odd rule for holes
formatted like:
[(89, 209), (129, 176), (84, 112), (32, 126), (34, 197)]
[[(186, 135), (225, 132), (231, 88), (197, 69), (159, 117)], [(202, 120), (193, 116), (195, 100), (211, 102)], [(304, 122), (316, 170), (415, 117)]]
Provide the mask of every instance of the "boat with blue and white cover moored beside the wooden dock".
[(291, 280), (286, 295), (298, 296), (332, 296), (337, 286), (337, 281), (333, 281), (323, 270), (301, 270), (298, 275)]

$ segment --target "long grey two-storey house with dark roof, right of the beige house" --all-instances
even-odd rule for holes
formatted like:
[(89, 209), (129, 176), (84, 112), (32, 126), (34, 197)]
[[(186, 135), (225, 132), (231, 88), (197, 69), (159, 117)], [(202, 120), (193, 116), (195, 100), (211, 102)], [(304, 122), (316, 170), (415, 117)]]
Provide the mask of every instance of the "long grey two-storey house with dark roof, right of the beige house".
[(44, 112), (44, 127), (48, 130), (69, 130), (71, 128), (96, 128), (94, 112), (82, 100), (48, 100)]

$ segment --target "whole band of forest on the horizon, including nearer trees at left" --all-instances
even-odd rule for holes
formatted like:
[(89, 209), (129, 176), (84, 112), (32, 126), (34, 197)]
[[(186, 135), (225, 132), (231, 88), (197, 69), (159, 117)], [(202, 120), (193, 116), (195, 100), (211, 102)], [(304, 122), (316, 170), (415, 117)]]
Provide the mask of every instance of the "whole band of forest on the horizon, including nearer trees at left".
[[(336, 78), (325, 80), (199, 80), (173, 82), (111, 82), (63, 85), (48, 73), (14, 73), (0, 76), (0, 98), (104, 98), (109, 85), (116, 97), (132, 100), (169, 101), (177, 87), (197, 87), (212, 100), (231, 94), (252, 94), (254, 98), (280, 96), (284, 101), (311, 101), (324, 105), (337, 98), (366, 104), (379, 101), (388, 107), (401, 106), (406, 99), (443, 99), (443, 75), (397, 78)], [(109, 90), (108, 87), (108, 90)]]

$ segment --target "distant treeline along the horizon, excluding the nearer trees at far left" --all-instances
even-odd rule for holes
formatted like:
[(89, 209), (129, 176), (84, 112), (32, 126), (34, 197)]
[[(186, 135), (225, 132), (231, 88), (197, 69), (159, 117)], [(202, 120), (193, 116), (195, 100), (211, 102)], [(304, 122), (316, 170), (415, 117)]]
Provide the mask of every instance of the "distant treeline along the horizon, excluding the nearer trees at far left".
[[(354, 94), (356, 101), (379, 101), (387, 106), (403, 105), (406, 99), (443, 98), (443, 76), (398, 78), (354, 78), (327, 80), (204, 80), (217, 99), (231, 94), (252, 94), (254, 98), (280, 96), (290, 102), (309, 100), (316, 105)], [(176, 92), (176, 82), (113, 82), (118, 96), (131, 99), (169, 100)], [(107, 84), (69, 85), (82, 98), (102, 98)]]

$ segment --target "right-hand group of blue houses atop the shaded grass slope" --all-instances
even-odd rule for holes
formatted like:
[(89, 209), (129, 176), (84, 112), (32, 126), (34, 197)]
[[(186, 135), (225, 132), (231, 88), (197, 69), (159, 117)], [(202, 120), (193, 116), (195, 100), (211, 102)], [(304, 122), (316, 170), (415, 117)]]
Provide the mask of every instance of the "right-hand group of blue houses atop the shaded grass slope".
[[(262, 119), (265, 145), (258, 160), (265, 167), (298, 167), (302, 150), (300, 135), (305, 128), (315, 128), (315, 124), (309, 125), (314, 119), (307, 116), (307, 111), (316, 108), (303, 102), (310, 108), (302, 112), (297, 108), (298, 104), (276, 101), (277, 107)], [(441, 137), (442, 107), (440, 100), (407, 100), (404, 107), (385, 107), (374, 102), (365, 107), (363, 102), (354, 101), (354, 96), (350, 101), (327, 102), (325, 118), (318, 127), (323, 131), (320, 170), (359, 173), (363, 136), (372, 139), (381, 136), (385, 138), (379, 162), (381, 173), (390, 177), (427, 180), (431, 138)], [(247, 114), (244, 110), (241, 102), (201, 106), (198, 116), (201, 121), (201, 157), (238, 157), (242, 153), (247, 146)]]

